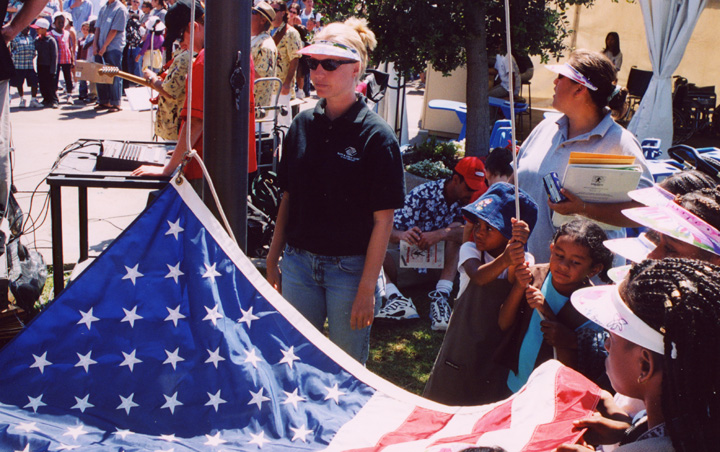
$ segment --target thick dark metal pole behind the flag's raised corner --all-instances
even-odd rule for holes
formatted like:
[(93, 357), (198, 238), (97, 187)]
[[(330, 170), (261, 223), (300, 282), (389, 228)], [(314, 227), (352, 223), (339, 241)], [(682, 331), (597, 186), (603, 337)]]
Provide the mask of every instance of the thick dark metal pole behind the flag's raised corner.
[[(203, 160), (243, 250), (247, 241), (251, 8), (251, 0), (207, 0), (205, 11)], [(239, 110), (230, 86), (238, 54), (246, 79)], [(216, 213), (211, 197), (206, 198)]]

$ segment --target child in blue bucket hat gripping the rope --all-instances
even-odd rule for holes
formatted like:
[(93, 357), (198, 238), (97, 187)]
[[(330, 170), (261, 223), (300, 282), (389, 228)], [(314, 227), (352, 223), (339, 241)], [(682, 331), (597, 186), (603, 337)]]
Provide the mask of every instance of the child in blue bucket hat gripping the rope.
[(445, 339), (423, 396), (447, 405), (479, 405), (507, 393), (507, 368), (493, 363), (500, 344), (500, 306), (514, 282), (518, 265), (534, 263), (524, 251), (538, 207), (518, 191), (520, 220), (515, 218), (515, 187), (493, 184), (462, 211), (473, 225), (472, 240), (460, 248), (460, 291)]

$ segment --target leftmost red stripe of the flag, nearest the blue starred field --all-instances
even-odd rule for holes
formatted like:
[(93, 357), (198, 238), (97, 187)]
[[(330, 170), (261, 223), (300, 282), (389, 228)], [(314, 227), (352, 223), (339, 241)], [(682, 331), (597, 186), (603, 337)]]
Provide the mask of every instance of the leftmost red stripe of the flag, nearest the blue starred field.
[(442, 430), (452, 417), (452, 414), (415, 407), (400, 427), (383, 435), (375, 446), (346, 452), (379, 452), (393, 444), (426, 439)]

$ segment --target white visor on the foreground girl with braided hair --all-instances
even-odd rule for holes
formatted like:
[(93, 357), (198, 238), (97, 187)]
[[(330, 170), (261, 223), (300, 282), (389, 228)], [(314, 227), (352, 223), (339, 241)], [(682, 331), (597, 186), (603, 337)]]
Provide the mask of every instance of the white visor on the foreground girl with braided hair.
[(607, 331), (663, 355), (663, 335), (636, 316), (620, 297), (618, 286), (576, 290), (571, 302), (578, 312)]

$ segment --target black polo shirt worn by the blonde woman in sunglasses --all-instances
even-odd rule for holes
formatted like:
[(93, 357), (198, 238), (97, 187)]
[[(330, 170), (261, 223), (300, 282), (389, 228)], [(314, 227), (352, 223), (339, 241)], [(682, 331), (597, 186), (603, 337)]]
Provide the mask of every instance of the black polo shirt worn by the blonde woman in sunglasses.
[(363, 100), (330, 121), (325, 101), (300, 113), (285, 138), (280, 188), (290, 193), (287, 243), (326, 256), (365, 255), (373, 212), (402, 207), (400, 147)]

